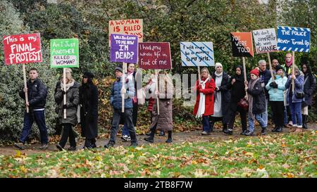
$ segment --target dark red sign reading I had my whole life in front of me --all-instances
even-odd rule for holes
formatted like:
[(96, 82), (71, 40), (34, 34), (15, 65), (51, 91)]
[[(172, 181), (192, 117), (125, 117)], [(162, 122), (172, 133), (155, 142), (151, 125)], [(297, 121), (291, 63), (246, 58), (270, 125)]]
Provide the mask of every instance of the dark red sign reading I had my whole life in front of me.
[(139, 68), (171, 69), (170, 43), (139, 43)]

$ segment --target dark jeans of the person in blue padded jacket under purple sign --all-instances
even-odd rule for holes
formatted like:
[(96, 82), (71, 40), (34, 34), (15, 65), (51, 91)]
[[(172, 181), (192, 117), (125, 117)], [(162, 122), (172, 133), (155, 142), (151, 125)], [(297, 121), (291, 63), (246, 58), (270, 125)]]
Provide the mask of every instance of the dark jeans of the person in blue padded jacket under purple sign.
[(132, 108), (125, 109), (125, 112), (122, 113), (121, 110), (113, 109), (113, 119), (112, 127), (110, 132), (110, 141), (116, 143), (116, 136), (118, 132), (118, 125), (120, 122), (121, 115), (124, 118), (125, 123), (127, 124), (129, 134), (131, 136), (131, 143), (137, 143), (137, 136), (135, 134), (135, 126), (132, 122)]

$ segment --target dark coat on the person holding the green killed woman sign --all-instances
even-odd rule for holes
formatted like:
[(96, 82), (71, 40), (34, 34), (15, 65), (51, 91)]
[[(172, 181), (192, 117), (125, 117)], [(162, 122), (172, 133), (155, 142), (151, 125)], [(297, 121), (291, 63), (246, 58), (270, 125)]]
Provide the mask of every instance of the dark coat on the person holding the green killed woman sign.
[(77, 106), (80, 100), (78, 88), (79, 84), (75, 82), (74, 85), (66, 91), (66, 119), (64, 119), (63, 93), (61, 87), (57, 89), (54, 98), (58, 104), (58, 122), (60, 124), (77, 124)]

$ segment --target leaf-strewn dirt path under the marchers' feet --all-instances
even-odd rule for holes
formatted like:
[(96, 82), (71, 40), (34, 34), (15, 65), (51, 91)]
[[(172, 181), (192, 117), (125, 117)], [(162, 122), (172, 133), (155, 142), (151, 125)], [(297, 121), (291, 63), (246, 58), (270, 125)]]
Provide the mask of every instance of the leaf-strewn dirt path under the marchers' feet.
[[(317, 130), (317, 123), (314, 124), (308, 124), (309, 129), (308, 130)], [(273, 133), (271, 132), (271, 129), (273, 127), (268, 127), (268, 134), (280, 134), (280, 133)], [(223, 134), (221, 132), (221, 129), (216, 129), (214, 130), (213, 133), (209, 136), (201, 136), (201, 130), (197, 131), (192, 131), (192, 132), (175, 132), (173, 133), (173, 143), (182, 143), (184, 141), (188, 142), (196, 142), (196, 141), (223, 141), (226, 139), (235, 139), (235, 138), (240, 138), (240, 137), (245, 137), (240, 135), (241, 129), (235, 129), (232, 136), (228, 136)], [(259, 126), (256, 127), (256, 134), (259, 134), (261, 130), (259, 129)], [(282, 134), (289, 134), (291, 132), (291, 129), (289, 128), (284, 128)], [(159, 132), (158, 132), (159, 133)], [(139, 135), (137, 136), (138, 143), (139, 145), (143, 144), (149, 144), (149, 142), (144, 141), (144, 138), (147, 137), (146, 135)], [(101, 136), (97, 139), (97, 146), (100, 148), (104, 147), (104, 144), (108, 142), (108, 136)], [(156, 134), (154, 138), (154, 143), (165, 143), (167, 139), (167, 134), (166, 136), (159, 136), (159, 134)], [(82, 146), (84, 145), (84, 139), (79, 139), (77, 141), (77, 148), (81, 149)], [(28, 155), (33, 154), (33, 153), (44, 153), (44, 152), (51, 152), (51, 151), (58, 151), (56, 149), (56, 142), (49, 143), (49, 148), (45, 151), (42, 151), (39, 149), (40, 144), (35, 143), (35, 144), (30, 144), (27, 145), (27, 149), (21, 151), (22, 153), (26, 153)], [(120, 139), (120, 136), (117, 137), (116, 140), (116, 146), (130, 146), (130, 141), (129, 142), (123, 142), (122, 139)], [(68, 148), (68, 144), (66, 144), (66, 148)], [(13, 155), (16, 153), (18, 149), (15, 148), (14, 146), (2, 146), (0, 147), (0, 155)]]

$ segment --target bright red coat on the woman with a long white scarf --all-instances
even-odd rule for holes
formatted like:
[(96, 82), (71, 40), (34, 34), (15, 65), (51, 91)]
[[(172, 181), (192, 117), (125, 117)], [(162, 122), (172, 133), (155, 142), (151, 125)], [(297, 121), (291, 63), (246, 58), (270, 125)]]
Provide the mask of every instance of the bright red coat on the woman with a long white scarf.
[[(205, 79), (201, 79), (205, 80)], [(194, 115), (197, 114), (198, 108), (199, 108), (199, 100), (200, 100), (200, 93), (199, 93), (199, 80), (196, 82), (196, 90), (197, 90), (197, 98), (196, 103), (194, 105)], [(216, 84), (213, 79), (209, 79), (205, 84), (205, 89), (202, 89), (202, 93), (205, 94), (205, 112), (204, 116), (206, 115), (213, 115), (213, 102), (214, 102), (214, 95), (213, 91), (216, 89)]]

